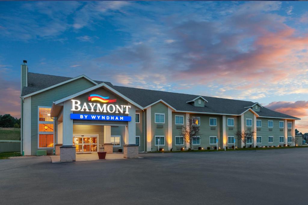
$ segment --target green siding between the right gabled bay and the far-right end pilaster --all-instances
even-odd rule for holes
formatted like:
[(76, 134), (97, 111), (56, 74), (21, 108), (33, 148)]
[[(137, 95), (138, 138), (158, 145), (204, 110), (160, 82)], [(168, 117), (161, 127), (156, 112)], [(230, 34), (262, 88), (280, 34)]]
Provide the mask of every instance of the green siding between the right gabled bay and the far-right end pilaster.
[[(261, 136), (262, 137), (262, 143), (257, 143), (256, 145), (258, 146), (278, 146), (279, 144), (286, 144), (286, 142), (284, 143), (279, 143), (279, 136), (284, 136), (284, 129), (283, 131), (280, 131), (279, 128), (279, 119), (272, 119), (272, 118), (261, 118), (261, 117), (257, 117), (257, 120), (262, 120), (261, 121), (261, 130), (257, 131), (257, 136)], [(269, 128), (268, 127), (268, 120), (273, 120), (273, 128)], [(269, 129), (272, 129), (272, 131), (270, 131)], [(269, 136), (273, 136), (273, 143), (268, 143), (268, 137)]]

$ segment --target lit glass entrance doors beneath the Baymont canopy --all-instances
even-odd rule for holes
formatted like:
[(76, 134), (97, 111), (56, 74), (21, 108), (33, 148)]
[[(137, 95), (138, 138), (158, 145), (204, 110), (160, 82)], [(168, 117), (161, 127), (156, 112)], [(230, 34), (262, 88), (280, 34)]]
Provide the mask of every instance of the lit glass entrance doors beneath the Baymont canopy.
[(76, 147), (76, 153), (97, 152), (97, 136), (74, 135), (73, 146)]

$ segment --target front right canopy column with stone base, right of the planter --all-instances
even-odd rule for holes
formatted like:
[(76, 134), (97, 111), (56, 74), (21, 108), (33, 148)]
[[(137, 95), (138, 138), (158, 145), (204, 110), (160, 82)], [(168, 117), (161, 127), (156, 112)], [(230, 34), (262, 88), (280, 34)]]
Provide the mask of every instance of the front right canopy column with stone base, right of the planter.
[(136, 145), (136, 108), (130, 103), (128, 105), (131, 106), (128, 116), (131, 116), (132, 120), (128, 122), (126, 127), (124, 158), (138, 158), (138, 146)]

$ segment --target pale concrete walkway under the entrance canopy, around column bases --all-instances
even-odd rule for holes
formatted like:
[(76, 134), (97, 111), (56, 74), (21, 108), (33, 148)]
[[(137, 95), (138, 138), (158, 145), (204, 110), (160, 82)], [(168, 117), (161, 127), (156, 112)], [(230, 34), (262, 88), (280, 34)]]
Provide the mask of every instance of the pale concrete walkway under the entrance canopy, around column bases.
[[(60, 162), (59, 155), (50, 155), (52, 163)], [(139, 157), (142, 158), (142, 157)], [(99, 160), (97, 153), (76, 154), (76, 162)], [(127, 160), (122, 153), (106, 154), (105, 160)], [(104, 160), (101, 160), (104, 161)]]

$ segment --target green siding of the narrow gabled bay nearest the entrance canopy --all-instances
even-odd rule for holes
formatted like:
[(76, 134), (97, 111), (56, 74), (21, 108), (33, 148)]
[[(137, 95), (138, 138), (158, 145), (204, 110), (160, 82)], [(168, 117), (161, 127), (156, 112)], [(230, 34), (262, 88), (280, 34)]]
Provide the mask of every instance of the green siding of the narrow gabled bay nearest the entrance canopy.
[[(155, 123), (155, 113), (165, 114), (165, 123)], [(157, 128), (157, 125), (163, 125), (163, 128)], [(152, 151), (157, 151), (158, 146), (155, 146), (155, 136), (165, 136), (165, 145), (159, 146), (164, 150), (168, 150), (168, 107), (159, 102), (151, 106), (151, 128), (152, 128)]]

